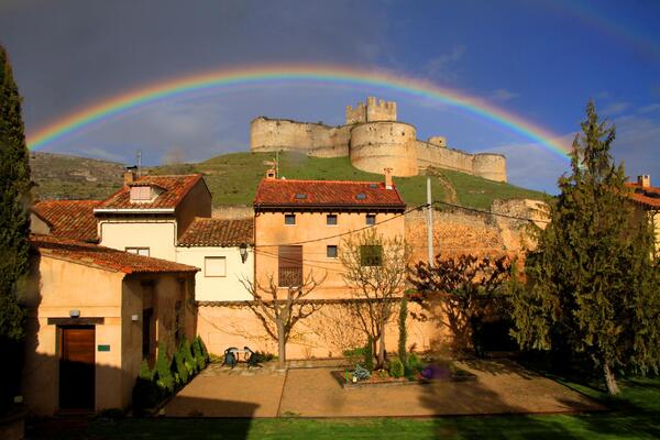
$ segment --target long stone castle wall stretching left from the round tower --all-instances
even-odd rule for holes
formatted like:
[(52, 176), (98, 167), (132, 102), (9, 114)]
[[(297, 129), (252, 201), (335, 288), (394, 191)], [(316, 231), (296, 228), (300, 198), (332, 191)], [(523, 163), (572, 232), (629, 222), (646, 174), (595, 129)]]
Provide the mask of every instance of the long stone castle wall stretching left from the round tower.
[(250, 124), (250, 148), (254, 152), (297, 151), (317, 157), (349, 155), (349, 127), (256, 118)]

